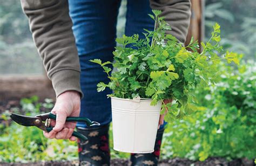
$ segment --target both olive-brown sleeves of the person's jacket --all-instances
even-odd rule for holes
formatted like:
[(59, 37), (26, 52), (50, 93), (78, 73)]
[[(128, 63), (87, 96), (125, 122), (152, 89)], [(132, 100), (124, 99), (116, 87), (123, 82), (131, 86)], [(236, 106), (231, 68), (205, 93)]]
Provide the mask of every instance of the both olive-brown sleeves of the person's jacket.
[[(21, 0), (21, 4), (56, 95), (70, 90), (83, 95), (68, 1)], [(161, 16), (171, 25), (172, 31), (167, 33), (184, 43), (190, 23), (190, 1), (150, 0), (150, 5), (152, 9), (161, 10)]]

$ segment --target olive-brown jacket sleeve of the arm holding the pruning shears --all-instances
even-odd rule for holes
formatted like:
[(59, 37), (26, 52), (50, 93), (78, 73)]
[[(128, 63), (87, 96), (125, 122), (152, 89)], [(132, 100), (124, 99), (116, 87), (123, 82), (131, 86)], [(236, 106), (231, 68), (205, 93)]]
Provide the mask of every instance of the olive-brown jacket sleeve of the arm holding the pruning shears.
[(80, 68), (66, 0), (21, 0), (30, 30), (56, 96), (80, 89)]

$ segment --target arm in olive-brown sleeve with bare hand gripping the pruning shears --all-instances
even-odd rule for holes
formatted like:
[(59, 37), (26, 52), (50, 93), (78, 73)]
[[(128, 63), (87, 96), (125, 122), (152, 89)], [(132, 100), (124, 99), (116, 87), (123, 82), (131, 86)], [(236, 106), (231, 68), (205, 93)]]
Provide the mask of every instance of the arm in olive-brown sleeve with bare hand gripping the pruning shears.
[[(80, 65), (66, 0), (21, 0), (29, 18), (30, 30), (43, 59), (48, 77), (52, 80), (57, 100), (51, 110), (57, 115), (55, 126), (44, 136), (50, 139), (70, 139), (76, 124), (65, 122), (67, 116), (80, 113)], [(79, 95), (80, 94), (80, 95)]]

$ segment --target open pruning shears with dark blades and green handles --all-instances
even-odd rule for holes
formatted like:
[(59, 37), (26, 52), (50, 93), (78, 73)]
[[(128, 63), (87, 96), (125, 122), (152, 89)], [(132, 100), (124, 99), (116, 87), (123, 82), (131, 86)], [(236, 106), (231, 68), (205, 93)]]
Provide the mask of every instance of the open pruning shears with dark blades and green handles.
[[(39, 129), (44, 130), (45, 132), (51, 132), (53, 129), (51, 125), (51, 119), (56, 120), (56, 115), (52, 113), (45, 113), (40, 114), (36, 116), (24, 116), (24, 115), (18, 115), (15, 113), (11, 113), (10, 115), (11, 119), (22, 126), (36, 126)], [(99, 126), (100, 123), (91, 121), (87, 117), (67, 117), (66, 122), (85, 122), (88, 127), (91, 126)], [(72, 136), (77, 137), (78, 139), (82, 141), (87, 141), (87, 137), (83, 134), (80, 134), (78, 132), (73, 132)]]

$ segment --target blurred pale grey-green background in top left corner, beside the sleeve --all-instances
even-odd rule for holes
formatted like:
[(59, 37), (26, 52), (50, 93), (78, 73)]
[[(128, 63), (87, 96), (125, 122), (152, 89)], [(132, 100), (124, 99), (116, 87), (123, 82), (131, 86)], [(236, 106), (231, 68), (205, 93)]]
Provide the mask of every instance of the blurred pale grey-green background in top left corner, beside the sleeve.
[(42, 74), (42, 60), (21, 3), (0, 0), (0, 4), (0, 74)]

